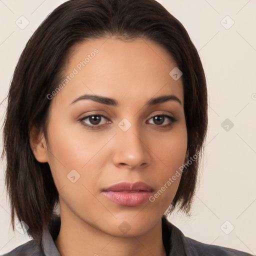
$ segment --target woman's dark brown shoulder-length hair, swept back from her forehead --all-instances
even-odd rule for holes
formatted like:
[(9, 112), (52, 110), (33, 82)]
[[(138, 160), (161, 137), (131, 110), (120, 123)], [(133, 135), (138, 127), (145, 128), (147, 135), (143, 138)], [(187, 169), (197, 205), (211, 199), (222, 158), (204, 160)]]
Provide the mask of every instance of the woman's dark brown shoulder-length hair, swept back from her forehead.
[[(146, 38), (165, 48), (182, 71), (188, 158), (202, 150), (207, 127), (207, 91), (197, 50), (183, 25), (155, 0), (69, 0), (54, 9), (25, 45), (8, 93), (3, 141), (5, 184), (14, 214), (41, 246), (43, 228), (54, 217), (58, 191), (48, 163), (38, 162), (29, 128), (42, 128), (47, 139), (50, 100), (74, 44), (91, 38)], [(171, 202), (189, 214), (199, 158), (185, 169)], [(171, 210), (171, 211), (172, 211)], [(14, 212), (15, 211), (15, 212)]]

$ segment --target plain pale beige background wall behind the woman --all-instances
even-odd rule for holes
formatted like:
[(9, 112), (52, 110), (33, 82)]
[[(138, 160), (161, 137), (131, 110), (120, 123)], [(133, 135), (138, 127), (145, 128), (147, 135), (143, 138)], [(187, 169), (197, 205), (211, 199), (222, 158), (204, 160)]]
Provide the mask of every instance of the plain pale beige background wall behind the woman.
[[(0, 0), (0, 101), (7, 95), (26, 41), (61, 2)], [(173, 214), (170, 220), (195, 240), (255, 254), (256, 1), (159, 2), (187, 29), (201, 57), (209, 92), (209, 129), (192, 216)], [(24, 29), (15, 24), (22, 15), (29, 21)], [(0, 105), (0, 124), (5, 105)], [(226, 118), (232, 128), (225, 122), (221, 126)], [(2, 150), (2, 140), (0, 146)], [(0, 163), (0, 254), (29, 240), (10, 228), (4, 164)]]

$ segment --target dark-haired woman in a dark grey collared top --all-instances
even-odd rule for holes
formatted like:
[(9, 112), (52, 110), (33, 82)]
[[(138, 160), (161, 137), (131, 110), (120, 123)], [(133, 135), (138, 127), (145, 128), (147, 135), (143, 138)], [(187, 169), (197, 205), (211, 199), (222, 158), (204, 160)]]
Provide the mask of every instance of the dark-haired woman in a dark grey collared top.
[(5, 255), (249, 255), (166, 219), (176, 207), (189, 214), (206, 127), (201, 61), (159, 3), (61, 4), (9, 89), (12, 227), (16, 212), (33, 239)]

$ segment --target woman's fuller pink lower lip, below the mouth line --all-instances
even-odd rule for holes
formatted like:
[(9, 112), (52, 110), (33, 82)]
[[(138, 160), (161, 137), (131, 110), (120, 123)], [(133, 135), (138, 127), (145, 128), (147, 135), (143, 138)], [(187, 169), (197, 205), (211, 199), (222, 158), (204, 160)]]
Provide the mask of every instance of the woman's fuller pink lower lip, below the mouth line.
[(113, 202), (126, 206), (137, 206), (143, 202), (148, 201), (151, 191), (139, 191), (139, 192), (121, 192), (121, 191), (104, 191), (106, 197)]

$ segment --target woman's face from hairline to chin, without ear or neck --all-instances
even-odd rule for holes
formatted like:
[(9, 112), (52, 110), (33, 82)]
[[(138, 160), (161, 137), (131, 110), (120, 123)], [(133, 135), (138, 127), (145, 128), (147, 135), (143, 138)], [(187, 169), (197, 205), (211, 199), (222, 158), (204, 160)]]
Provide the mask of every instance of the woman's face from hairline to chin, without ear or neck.
[(143, 234), (159, 221), (176, 193), (187, 146), (174, 67), (167, 51), (145, 39), (73, 47), (65, 77), (47, 96), (45, 161), (61, 218), (116, 236)]

